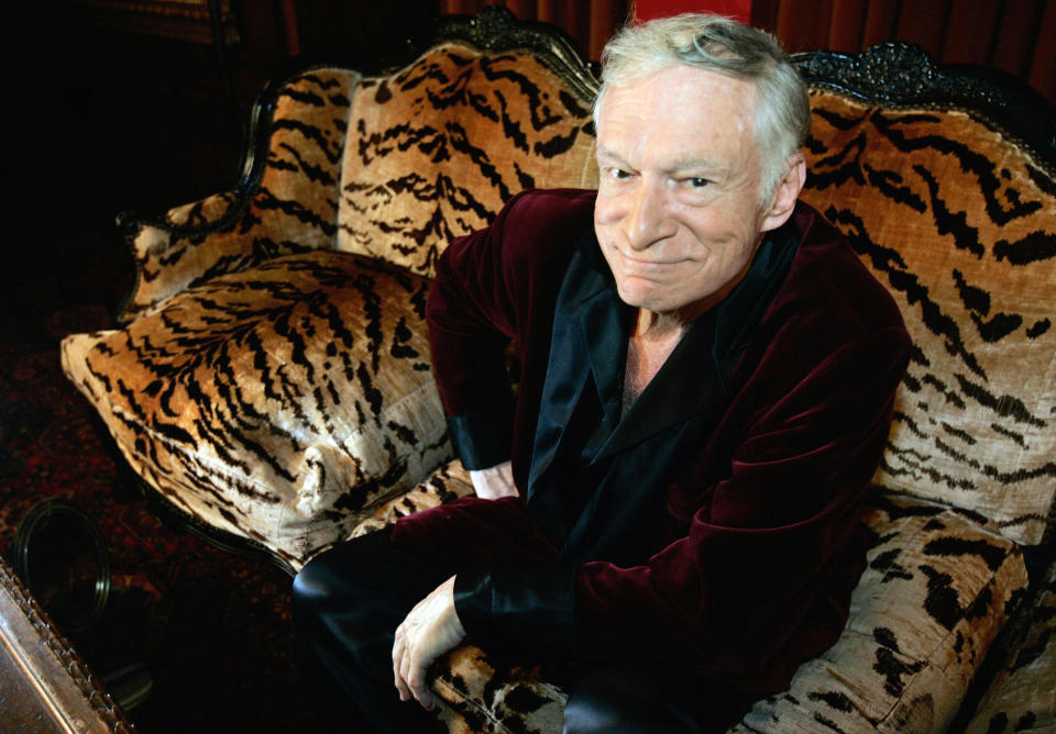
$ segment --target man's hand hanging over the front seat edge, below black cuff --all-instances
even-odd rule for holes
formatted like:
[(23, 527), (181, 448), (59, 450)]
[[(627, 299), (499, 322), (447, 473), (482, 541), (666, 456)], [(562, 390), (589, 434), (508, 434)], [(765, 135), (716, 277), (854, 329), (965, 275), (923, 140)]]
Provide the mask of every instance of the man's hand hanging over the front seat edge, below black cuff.
[(396, 627), (393, 643), (393, 675), (399, 700), (411, 698), (427, 710), (433, 705), (426, 672), (438, 657), (465, 637), (462, 621), (454, 611), (454, 577), (438, 586), (419, 601), (403, 624)]

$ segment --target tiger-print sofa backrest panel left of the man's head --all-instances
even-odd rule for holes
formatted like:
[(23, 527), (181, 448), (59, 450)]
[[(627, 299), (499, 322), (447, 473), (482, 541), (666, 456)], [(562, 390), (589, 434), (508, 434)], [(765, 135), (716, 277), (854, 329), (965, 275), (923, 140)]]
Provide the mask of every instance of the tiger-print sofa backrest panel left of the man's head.
[(349, 119), (338, 248), (431, 276), (451, 237), (488, 224), (518, 191), (595, 187), (595, 89), (570, 84), (553, 62), (451, 41), (364, 79)]

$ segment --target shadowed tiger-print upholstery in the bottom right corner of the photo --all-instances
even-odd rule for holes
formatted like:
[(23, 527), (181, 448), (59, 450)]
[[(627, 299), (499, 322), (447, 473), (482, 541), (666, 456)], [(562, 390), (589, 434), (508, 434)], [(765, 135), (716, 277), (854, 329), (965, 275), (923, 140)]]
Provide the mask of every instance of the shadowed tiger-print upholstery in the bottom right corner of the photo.
[(1056, 564), (1025, 616), (1027, 631), (976, 710), (968, 734), (1056, 731)]

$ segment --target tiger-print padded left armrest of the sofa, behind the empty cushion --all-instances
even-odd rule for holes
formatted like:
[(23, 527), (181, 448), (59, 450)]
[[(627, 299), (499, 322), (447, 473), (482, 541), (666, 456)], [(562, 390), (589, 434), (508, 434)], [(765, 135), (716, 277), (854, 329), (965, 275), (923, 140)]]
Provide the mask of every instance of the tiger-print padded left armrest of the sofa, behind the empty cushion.
[(136, 265), (122, 323), (209, 278), (333, 247), (348, 115), (359, 82), (355, 71), (315, 67), (270, 85), (253, 107), (233, 190), (161, 216), (118, 218)]

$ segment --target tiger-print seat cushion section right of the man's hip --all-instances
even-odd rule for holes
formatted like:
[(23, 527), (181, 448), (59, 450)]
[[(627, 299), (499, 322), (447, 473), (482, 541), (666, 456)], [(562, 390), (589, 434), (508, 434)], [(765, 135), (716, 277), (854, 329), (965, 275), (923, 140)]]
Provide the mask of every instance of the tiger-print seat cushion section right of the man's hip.
[(850, 619), (734, 732), (942, 732), (1026, 585), (1015, 543), (942, 505), (878, 494)]

